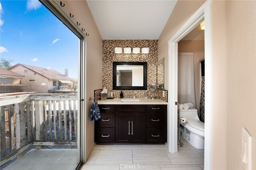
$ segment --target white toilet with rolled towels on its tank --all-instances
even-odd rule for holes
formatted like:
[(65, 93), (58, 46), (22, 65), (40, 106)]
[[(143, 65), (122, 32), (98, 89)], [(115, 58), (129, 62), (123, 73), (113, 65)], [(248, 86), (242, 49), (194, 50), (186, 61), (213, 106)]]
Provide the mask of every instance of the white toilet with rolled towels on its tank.
[(204, 123), (199, 120), (197, 109), (178, 109), (179, 117), (186, 118), (184, 123), (180, 120), (182, 136), (195, 148), (204, 149)]

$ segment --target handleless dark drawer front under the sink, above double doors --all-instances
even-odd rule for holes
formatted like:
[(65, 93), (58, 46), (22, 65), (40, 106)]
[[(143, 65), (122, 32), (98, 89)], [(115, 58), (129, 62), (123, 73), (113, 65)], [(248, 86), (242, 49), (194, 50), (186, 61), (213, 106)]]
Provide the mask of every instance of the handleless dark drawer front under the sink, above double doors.
[(116, 105), (116, 112), (146, 112), (146, 105)]

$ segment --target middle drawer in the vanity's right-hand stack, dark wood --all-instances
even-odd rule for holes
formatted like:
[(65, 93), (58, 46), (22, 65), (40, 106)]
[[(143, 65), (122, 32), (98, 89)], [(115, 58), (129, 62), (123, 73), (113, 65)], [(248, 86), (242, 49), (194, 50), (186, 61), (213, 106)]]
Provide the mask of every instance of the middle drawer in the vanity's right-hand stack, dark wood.
[(146, 113), (146, 127), (162, 127), (163, 113)]

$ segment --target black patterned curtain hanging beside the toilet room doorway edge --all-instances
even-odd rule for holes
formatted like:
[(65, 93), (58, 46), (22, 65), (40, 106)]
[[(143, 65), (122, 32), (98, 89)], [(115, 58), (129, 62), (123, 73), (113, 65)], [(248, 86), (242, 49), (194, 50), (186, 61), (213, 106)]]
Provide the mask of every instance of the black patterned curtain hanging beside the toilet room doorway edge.
[(201, 61), (201, 73), (202, 73), (202, 85), (201, 85), (201, 97), (200, 97), (200, 121), (204, 122), (204, 60)]

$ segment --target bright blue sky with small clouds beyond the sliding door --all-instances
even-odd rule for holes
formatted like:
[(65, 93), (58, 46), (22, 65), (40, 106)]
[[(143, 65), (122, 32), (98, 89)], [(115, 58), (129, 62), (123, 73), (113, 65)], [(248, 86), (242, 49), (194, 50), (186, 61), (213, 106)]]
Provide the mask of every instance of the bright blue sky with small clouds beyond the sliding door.
[(78, 38), (38, 0), (1, 0), (0, 57), (77, 78)]

